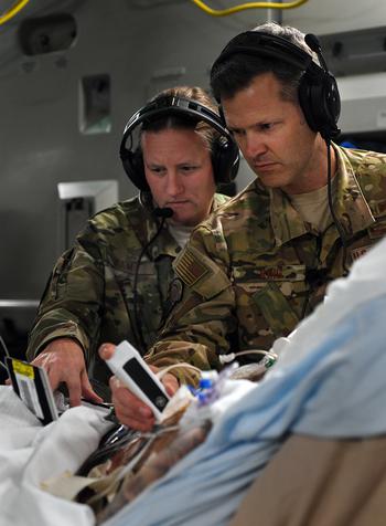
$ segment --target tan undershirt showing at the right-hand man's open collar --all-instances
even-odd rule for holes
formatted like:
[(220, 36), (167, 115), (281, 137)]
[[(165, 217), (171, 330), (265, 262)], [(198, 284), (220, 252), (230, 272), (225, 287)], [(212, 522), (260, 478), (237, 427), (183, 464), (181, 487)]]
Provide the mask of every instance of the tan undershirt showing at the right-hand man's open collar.
[[(332, 194), (334, 197), (336, 194), (336, 185), (337, 180), (334, 177), (332, 180)], [(328, 185), (312, 192), (289, 196), (289, 199), (302, 219), (311, 223), (319, 232), (324, 232), (333, 222), (329, 207)]]

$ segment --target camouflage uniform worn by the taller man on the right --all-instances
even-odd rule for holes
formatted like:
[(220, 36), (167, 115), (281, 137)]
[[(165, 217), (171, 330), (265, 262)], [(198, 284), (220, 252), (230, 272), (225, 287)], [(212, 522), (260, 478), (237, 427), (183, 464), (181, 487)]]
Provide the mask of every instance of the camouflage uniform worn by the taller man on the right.
[[(334, 145), (334, 210), (346, 249), (332, 223), (323, 233), (305, 223), (279, 189), (256, 179), (194, 230), (174, 262), (182, 301), (169, 316), (148, 361), (186, 361), (221, 368), (218, 354), (268, 349), (323, 298), (386, 232), (386, 156)], [(256, 355), (255, 355), (256, 356)], [(242, 361), (242, 360), (240, 360)], [(192, 374), (178, 369), (181, 379)]]

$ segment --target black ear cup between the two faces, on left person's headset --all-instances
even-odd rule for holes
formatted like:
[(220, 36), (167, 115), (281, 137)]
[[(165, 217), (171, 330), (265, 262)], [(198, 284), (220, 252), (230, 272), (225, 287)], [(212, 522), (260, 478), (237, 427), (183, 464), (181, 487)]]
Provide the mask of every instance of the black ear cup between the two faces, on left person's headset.
[(232, 182), (238, 171), (239, 152), (236, 143), (225, 137), (215, 140), (212, 147), (212, 166), (216, 183)]

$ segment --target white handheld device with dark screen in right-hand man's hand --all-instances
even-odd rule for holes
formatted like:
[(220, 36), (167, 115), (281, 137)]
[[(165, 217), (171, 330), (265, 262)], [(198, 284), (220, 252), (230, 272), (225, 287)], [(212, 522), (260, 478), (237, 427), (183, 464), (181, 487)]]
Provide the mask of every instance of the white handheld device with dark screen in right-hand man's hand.
[(106, 364), (133, 394), (149, 406), (157, 420), (161, 420), (170, 398), (138, 350), (125, 340), (116, 347), (112, 357), (106, 359)]

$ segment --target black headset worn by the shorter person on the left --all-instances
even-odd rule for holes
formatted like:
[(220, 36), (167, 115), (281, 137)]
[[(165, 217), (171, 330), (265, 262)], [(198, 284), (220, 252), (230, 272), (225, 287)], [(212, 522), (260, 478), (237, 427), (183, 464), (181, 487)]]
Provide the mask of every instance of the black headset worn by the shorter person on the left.
[[(135, 145), (132, 133), (141, 124), (154, 122), (168, 115), (204, 120), (219, 133), (212, 146), (212, 166), (216, 183), (235, 179), (239, 165), (239, 151), (236, 141), (222, 124), (222, 119), (212, 109), (191, 98), (160, 96), (132, 115), (125, 127), (119, 155), (126, 173), (139, 190), (150, 191), (144, 177), (143, 156), (140, 145)], [(127, 145), (127, 143), (129, 143)]]

